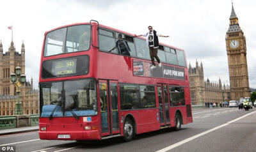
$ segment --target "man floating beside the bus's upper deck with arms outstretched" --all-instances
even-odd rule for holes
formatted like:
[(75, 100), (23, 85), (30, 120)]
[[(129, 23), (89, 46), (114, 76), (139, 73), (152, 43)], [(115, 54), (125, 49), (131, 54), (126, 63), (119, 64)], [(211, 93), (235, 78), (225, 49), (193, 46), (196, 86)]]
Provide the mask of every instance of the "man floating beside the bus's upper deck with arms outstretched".
[(153, 65), (150, 68), (156, 68), (156, 64), (154, 62), (154, 57), (157, 60), (158, 66), (161, 67), (162, 66), (161, 61), (160, 61), (159, 57), (157, 56), (157, 49), (159, 47), (158, 36), (161, 36), (161, 37), (169, 37), (169, 36), (164, 36), (162, 34), (158, 34), (157, 31), (155, 31), (152, 26), (148, 26), (148, 30), (149, 30), (148, 33), (140, 34), (140, 35), (135, 34), (135, 37), (136, 36), (147, 37), (147, 45), (149, 47), (150, 58), (151, 58), (152, 65)]

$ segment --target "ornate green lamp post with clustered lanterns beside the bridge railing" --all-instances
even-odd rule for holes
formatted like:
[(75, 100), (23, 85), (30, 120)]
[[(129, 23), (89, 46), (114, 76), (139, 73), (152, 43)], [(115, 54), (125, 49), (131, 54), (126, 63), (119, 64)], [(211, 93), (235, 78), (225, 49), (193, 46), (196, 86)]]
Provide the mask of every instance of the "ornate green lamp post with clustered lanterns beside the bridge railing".
[(20, 86), (22, 86), (24, 82), (26, 82), (26, 75), (24, 74), (20, 75), (20, 73), (21, 73), (21, 68), (20, 66), (17, 66), (15, 68), (15, 73), (11, 74), (11, 81), (16, 87), (16, 93), (18, 95), (17, 103), (15, 106), (16, 115), (22, 114), (21, 103), (20, 103)]

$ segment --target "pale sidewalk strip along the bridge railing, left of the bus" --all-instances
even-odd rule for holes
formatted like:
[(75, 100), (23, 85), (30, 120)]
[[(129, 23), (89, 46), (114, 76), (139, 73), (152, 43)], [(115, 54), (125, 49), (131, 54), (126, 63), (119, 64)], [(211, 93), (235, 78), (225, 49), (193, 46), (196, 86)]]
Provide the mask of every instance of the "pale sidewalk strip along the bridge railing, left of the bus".
[(20, 128), (3, 129), (3, 130), (0, 130), (0, 136), (13, 134), (13, 133), (33, 132), (33, 131), (38, 131), (38, 126), (26, 126), (26, 127), (20, 127)]

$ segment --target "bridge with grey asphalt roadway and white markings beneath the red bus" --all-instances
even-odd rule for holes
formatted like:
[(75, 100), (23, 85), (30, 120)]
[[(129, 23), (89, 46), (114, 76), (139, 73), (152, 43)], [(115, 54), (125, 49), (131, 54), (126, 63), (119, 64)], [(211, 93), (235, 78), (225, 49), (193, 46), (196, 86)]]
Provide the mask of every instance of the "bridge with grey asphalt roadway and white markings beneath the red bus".
[[(182, 126), (179, 132), (166, 128), (137, 135), (131, 142), (123, 142), (119, 137), (84, 142), (42, 141), (35, 132), (38, 129), (35, 125), (0, 130), (0, 148), (13, 146), (16, 151), (255, 151), (255, 108), (249, 111), (196, 108), (193, 108), (194, 122)], [(33, 117), (38, 116), (30, 116), (30, 123), (35, 124), (36, 120), (31, 121)], [(17, 121), (15, 116), (5, 118), (13, 119), (11, 123)], [(4, 130), (23, 130), (23, 133), (3, 135)]]

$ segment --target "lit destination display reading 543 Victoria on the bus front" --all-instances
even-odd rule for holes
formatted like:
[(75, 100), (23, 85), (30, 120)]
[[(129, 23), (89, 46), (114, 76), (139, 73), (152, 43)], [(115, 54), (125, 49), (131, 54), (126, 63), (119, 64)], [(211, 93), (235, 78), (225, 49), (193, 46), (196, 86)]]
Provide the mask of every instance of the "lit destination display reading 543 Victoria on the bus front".
[(77, 59), (62, 59), (52, 63), (52, 74), (56, 76), (76, 73)]

